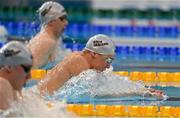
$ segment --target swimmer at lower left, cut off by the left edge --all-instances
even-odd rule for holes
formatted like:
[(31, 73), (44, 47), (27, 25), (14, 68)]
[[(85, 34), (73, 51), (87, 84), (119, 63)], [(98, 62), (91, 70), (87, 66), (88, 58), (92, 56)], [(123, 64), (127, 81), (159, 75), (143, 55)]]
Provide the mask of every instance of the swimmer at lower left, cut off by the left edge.
[(10, 107), (30, 77), (32, 55), (23, 43), (11, 41), (0, 49), (0, 110)]

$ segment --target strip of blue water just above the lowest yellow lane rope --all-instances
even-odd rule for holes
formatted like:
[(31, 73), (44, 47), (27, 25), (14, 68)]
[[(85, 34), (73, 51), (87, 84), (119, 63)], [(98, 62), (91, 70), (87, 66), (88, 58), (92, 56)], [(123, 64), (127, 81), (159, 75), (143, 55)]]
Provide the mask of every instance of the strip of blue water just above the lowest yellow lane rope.
[(106, 104), (106, 105), (157, 105), (157, 106), (180, 106), (180, 90), (179, 87), (153, 87), (163, 90), (169, 98), (167, 100), (142, 97), (142, 96), (129, 96), (129, 97), (95, 97), (79, 96), (79, 98), (67, 98), (69, 104)]

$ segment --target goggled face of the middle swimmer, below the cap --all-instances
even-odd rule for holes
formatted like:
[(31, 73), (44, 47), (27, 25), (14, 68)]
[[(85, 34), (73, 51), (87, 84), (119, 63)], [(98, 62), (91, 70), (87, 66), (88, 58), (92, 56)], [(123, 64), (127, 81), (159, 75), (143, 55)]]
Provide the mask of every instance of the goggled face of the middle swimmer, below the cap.
[(114, 60), (114, 56), (94, 53), (93, 60), (94, 69), (104, 71), (106, 68), (110, 67), (112, 61)]

